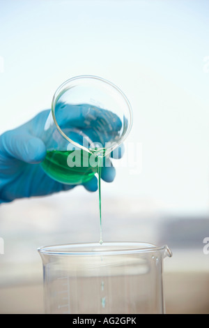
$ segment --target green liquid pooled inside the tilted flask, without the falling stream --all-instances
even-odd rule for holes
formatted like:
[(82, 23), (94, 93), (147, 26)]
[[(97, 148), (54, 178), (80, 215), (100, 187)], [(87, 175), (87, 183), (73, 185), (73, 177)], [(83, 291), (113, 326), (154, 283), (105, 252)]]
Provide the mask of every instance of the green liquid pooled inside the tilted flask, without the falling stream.
[[(47, 151), (42, 168), (49, 177), (61, 184), (85, 184), (98, 172), (98, 165), (95, 167), (89, 165), (91, 156), (93, 155), (83, 150)], [(69, 162), (75, 165), (70, 167)]]

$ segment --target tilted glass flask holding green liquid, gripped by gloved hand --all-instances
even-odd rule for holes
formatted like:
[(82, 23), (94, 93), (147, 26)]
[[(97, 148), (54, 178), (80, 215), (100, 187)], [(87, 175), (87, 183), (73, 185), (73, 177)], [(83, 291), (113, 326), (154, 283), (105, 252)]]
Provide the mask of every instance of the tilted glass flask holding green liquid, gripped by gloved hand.
[(131, 126), (132, 109), (118, 87), (101, 77), (73, 77), (54, 94), (42, 169), (63, 184), (86, 183), (98, 172), (98, 157), (120, 151)]

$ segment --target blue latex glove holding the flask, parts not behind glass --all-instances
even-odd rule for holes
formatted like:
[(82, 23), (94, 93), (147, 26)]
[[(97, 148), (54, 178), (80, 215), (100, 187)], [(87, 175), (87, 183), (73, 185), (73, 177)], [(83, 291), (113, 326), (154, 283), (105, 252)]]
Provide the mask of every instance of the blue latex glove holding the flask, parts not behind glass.
[[(40, 112), (31, 121), (0, 136), (0, 203), (75, 188), (49, 178), (40, 166), (46, 156), (42, 133), (48, 115), (49, 110)], [(104, 181), (113, 181), (115, 175), (113, 165), (102, 167)], [(87, 191), (97, 191), (98, 179), (94, 176), (83, 186)]]

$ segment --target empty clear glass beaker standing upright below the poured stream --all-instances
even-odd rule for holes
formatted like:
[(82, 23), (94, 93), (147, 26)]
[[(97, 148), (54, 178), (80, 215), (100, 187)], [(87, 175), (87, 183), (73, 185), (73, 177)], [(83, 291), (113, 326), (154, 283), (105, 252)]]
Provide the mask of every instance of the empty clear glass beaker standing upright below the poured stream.
[(167, 246), (69, 244), (38, 249), (47, 314), (163, 314)]

